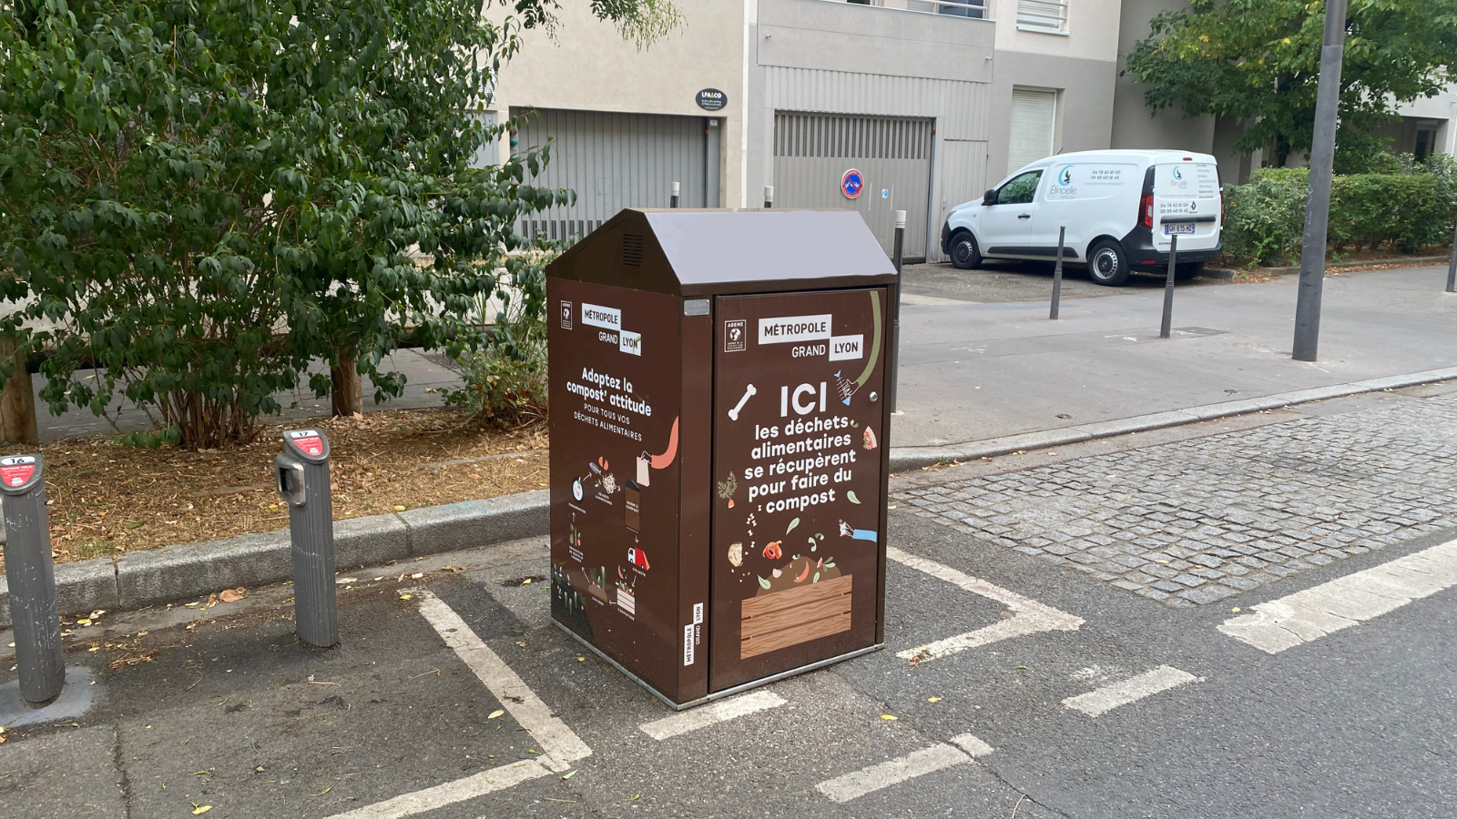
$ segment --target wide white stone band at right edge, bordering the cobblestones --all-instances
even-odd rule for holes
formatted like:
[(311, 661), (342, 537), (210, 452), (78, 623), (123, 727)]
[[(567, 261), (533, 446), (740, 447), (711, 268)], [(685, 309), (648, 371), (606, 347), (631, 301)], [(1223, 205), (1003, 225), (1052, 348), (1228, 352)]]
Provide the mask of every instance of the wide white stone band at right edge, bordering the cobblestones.
[(1457, 541), (1253, 606), (1220, 631), (1278, 654), (1457, 584)]

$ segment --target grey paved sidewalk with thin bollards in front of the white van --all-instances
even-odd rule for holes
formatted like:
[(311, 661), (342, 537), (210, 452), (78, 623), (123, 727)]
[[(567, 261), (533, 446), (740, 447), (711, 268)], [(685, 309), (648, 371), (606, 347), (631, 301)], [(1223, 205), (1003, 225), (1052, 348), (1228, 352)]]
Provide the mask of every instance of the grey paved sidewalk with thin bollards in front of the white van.
[[(909, 274), (906, 290), (970, 297), (946, 283), (949, 270)], [(1289, 357), (1295, 277), (1179, 287), (1169, 341), (1158, 338), (1163, 291), (1147, 287), (1072, 300), (1055, 322), (1045, 300), (905, 305), (903, 414), (890, 442), (943, 447), (1451, 367), (1457, 297), (1441, 291), (1445, 273), (1329, 275), (1316, 363)]]

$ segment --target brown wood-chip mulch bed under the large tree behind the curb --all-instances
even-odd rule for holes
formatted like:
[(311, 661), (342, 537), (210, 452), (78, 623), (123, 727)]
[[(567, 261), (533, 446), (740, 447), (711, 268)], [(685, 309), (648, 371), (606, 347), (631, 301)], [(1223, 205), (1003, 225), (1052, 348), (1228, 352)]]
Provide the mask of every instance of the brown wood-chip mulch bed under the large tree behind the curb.
[[(326, 431), (332, 447), (335, 520), (546, 485), (545, 424), (500, 431), (439, 410), (321, 418), (312, 426)], [(55, 560), (286, 529), (288, 509), (272, 478), (283, 428), (213, 452), (137, 449), (101, 437), (41, 444)], [(22, 452), (35, 447), (0, 447), (0, 455)]]

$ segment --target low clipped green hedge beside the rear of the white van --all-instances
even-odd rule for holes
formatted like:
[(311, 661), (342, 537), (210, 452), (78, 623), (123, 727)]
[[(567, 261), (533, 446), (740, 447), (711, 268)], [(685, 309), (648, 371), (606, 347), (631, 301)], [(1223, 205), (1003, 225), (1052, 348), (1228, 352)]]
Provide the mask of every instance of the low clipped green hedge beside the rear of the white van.
[[(1294, 264), (1305, 229), (1304, 168), (1265, 168), (1224, 188), (1224, 252), (1234, 264)], [(1457, 219), (1457, 160), (1437, 154), (1394, 173), (1336, 176), (1329, 248), (1415, 251), (1451, 240)]]

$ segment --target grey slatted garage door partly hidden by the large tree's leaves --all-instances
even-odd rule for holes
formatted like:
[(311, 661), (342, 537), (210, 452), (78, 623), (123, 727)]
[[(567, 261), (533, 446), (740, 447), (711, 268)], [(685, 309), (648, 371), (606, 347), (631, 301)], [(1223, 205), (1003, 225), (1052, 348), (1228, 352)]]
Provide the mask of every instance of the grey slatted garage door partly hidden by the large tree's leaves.
[(627, 207), (718, 207), (718, 119), (605, 111), (519, 109), (517, 150), (552, 140), (551, 162), (535, 184), (568, 188), (577, 203), (520, 224), (529, 236), (586, 236)]

